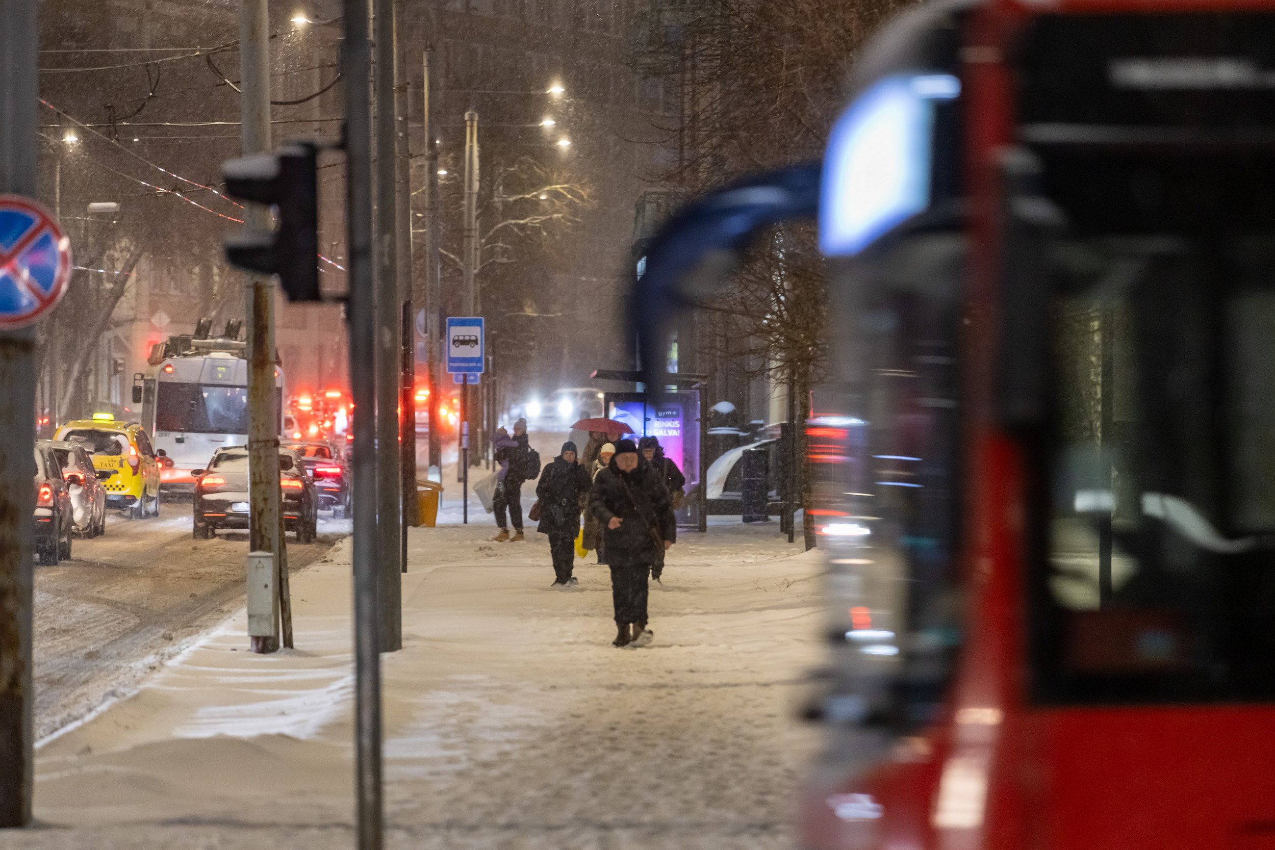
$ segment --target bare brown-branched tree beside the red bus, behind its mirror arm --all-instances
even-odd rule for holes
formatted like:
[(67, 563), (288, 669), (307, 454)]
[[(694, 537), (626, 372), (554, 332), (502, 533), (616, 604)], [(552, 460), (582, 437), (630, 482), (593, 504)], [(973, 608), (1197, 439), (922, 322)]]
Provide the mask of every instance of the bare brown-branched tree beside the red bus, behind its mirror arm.
[[(858, 47), (904, 5), (650, 0), (636, 64), (663, 83), (672, 103), (657, 125), (671, 164), (653, 177), (694, 196), (743, 173), (820, 158)], [(810, 389), (824, 370), (825, 303), (813, 228), (778, 228), (759, 241), (727, 291), (704, 305), (713, 317), (694, 342), (710, 362), (787, 381), (798, 424), (811, 415)], [(741, 339), (748, 357), (738, 356)], [(801, 492), (810, 508), (805, 468)], [(807, 548), (815, 545), (813, 531), (807, 510)]]

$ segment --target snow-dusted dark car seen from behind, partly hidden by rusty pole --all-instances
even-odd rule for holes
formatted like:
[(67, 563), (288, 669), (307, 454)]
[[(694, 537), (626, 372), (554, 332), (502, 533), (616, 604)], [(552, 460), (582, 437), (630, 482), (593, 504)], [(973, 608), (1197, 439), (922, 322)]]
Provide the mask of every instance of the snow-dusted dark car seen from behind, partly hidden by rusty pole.
[[(195, 479), (193, 507), (196, 539), (210, 539), (217, 535), (217, 529), (249, 528), (246, 447), (218, 449), (207, 469), (195, 469), (190, 474)], [(283, 528), (296, 531), (297, 543), (314, 543), (319, 535), (319, 498), (314, 479), (292, 449), (279, 449), (279, 488)]]

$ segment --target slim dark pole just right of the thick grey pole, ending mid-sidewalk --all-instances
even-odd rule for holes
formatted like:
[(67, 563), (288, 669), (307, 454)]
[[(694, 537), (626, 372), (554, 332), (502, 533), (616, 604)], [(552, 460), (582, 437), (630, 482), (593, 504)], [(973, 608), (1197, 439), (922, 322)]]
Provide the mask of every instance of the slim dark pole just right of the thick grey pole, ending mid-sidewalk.
[(404, 19), (404, 0), (394, 0), (394, 163), (395, 215), (398, 237), (399, 291), (399, 470), (403, 497), (403, 549), (399, 565), (407, 572), (407, 528), (421, 524), (416, 496), (416, 330), (412, 297), (412, 161), (407, 126), (407, 40), (399, 38)]

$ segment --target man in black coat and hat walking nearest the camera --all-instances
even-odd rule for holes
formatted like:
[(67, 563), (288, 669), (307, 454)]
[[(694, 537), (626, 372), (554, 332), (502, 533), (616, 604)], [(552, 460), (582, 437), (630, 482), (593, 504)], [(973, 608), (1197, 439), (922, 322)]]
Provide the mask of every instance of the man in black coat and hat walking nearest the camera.
[(618, 628), (613, 644), (646, 646), (654, 638), (646, 628), (648, 576), (677, 540), (677, 521), (660, 474), (632, 440), (618, 441), (611, 464), (594, 478), (589, 512), (606, 535)]

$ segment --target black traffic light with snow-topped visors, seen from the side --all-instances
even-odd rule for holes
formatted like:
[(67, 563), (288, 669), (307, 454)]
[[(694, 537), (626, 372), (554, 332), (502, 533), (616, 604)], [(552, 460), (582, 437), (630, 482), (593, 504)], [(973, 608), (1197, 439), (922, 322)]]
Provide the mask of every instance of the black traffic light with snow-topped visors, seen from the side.
[(277, 153), (222, 166), (231, 198), (273, 204), (274, 231), (247, 229), (226, 240), (226, 259), (249, 271), (279, 275), (288, 301), (323, 301), (319, 291), (319, 145), (289, 141)]

